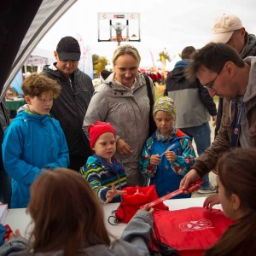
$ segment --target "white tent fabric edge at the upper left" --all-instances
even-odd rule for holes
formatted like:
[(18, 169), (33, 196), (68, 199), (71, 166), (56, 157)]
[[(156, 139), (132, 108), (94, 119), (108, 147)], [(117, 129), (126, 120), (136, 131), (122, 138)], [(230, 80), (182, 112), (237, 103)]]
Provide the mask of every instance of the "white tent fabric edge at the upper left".
[(11, 69), (9, 70), (9, 77), (3, 84), (1, 100), (7, 87), (15, 79), (15, 75), (20, 71), (20, 68), (25, 63), (32, 50), (37, 46), (39, 41), (44, 37), (45, 33), (49, 31), (51, 26), (61, 18), (67, 9), (77, 0), (44, 0), (35, 15), (31, 26), (26, 32), (26, 37), (23, 38), (22, 44)]

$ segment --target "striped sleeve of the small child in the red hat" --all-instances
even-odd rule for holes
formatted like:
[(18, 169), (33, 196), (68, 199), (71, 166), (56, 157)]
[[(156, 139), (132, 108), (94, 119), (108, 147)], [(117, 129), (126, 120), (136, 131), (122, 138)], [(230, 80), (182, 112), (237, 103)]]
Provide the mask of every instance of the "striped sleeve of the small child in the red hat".
[(99, 199), (104, 203), (107, 200), (109, 188), (102, 186), (100, 172), (102, 172), (102, 166), (87, 164), (81, 168), (80, 173), (86, 178), (88, 183), (90, 183), (91, 189), (94, 190)]

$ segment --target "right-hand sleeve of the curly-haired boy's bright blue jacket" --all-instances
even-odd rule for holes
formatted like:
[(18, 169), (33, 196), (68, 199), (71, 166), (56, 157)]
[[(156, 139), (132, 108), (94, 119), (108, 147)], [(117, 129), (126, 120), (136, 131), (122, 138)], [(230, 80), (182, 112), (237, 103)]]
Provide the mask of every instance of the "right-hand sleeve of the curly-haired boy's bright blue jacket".
[(65, 167), (69, 166), (69, 152), (67, 148), (67, 141), (66, 137), (64, 135), (64, 132), (61, 128), (61, 125), (59, 125), (59, 132), (60, 132), (60, 143), (59, 143), (59, 155), (58, 159), (55, 161), (55, 163), (50, 163), (44, 167), (55, 169), (58, 167)]

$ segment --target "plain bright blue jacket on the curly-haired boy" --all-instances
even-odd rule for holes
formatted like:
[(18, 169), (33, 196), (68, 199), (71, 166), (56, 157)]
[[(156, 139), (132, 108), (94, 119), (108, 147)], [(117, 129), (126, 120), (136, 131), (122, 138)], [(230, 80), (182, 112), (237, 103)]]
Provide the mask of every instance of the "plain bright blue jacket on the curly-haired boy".
[(27, 207), (30, 185), (44, 167), (67, 167), (69, 155), (59, 121), (21, 107), (3, 138), (3, 164), (12, 178), (12, 208)]

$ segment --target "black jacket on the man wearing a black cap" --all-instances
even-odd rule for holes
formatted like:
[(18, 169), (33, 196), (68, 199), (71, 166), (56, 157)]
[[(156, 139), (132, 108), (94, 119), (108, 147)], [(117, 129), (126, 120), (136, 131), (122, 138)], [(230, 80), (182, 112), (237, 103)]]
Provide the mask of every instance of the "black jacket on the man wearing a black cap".
[(71, 156), (84, 156), (85, 160), (90, 155), (90, 145), (84, 137), (82, 125), (94, 92), (92, 81), (79, 68), (75, 70), (71, 79), (67, 79), (58, 71), (55, 64), (46, 65), (43, 69), (45, 76), (55, 79), (61, 84), (61, 94), (54, 100), (50, 113), (61, 123), (69, 154)]

